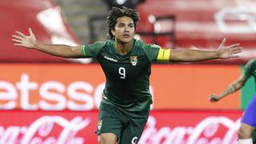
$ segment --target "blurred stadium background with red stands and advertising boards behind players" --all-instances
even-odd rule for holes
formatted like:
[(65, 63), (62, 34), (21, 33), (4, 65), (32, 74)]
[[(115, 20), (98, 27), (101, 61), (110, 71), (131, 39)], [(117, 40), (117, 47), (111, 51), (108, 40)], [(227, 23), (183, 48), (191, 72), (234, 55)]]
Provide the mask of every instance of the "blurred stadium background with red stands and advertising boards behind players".
[(13, 46), (16, 30), (70, 46), (106, 40), (112, 6), (138, 10), (136, 38), (170, 49), (240, 43), (239, 58), (152, 66), (154, 104), (140, 144), (236, 143), (254, 79), (217, 103), (256, 57), (255, 0), (0, 0), (0, 143), (97, 143), (105, 77), (94, 59), (53, 57)]

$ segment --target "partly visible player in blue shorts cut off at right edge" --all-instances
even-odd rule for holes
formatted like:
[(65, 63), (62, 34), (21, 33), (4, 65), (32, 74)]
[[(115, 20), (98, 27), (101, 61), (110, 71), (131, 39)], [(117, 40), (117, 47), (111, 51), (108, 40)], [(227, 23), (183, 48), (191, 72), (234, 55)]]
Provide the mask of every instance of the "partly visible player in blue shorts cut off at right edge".
[[(246, 83), (247, 79), (251, 76), (254, 77), (256, 83), (256, 58), (251, 59), (246, 63), (244, 69), (242, 70), (242, 74), (240, 77), (235, 80), (230, 86), (226, 88), (222, 92), (222, 94), (211, 94), (210, 102), (218, 102), (218, 100), (226, 97), (229, 94), (234, 93), (237, 90), (240, 90), (242, 86)], [(256, 89), (255, 89), (256, 90)], [(256, 94), (255, 94), (256, 95)], [(238, 130), (238, 143), (239, 144), (251, 144), (252, 138), (251, 135), (256, 127), (256, 97), (250, 101), (249, 106), (247, 106), (244, 114), (242, 115), (241, 126)]]

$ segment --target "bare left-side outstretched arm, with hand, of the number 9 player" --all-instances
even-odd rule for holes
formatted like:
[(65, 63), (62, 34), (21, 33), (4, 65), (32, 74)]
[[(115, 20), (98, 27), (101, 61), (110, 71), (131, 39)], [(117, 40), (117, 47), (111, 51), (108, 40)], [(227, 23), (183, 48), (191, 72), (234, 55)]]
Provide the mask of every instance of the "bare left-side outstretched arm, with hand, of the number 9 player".
[(29, 32), (30, 35), (25, 35), (16, 31), (16, 34), (12, 35), (14, 46), (23, 46), (62, 58), (82, 58), (83, 56), (80, 46), (45, 44), (37, 41), (31, 29)]

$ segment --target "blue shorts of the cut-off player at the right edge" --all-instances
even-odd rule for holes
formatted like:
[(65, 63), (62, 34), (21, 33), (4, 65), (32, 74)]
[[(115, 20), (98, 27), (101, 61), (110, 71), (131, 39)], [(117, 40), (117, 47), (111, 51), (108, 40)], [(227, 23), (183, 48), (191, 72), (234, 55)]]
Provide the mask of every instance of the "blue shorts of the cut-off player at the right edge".
[(256, 127), (256, 94), (254, 94), (254, 98), (247, 106), (242, 116), (241, 122)]

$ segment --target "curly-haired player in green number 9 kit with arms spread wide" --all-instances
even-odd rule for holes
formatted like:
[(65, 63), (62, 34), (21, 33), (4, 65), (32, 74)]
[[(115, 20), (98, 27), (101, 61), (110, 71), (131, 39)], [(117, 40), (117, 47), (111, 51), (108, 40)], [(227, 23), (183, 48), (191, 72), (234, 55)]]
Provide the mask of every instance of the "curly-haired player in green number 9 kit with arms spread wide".
[(137, 143), (150, 112), (151, 62), (194, 62), (215, 58), (236, 58), (239, 44), (218, 50), (170, 50), (134, 39), (139, 21), (136, 10), (113, 7), (107, 14), (110, 40), (85, 46), (53, 45), (38, 42), (16, 31), (15, 46), (24, 46), (63, 58), (97, 58), (106, 75), (106, 86), (98, 115), (98, 143)]

